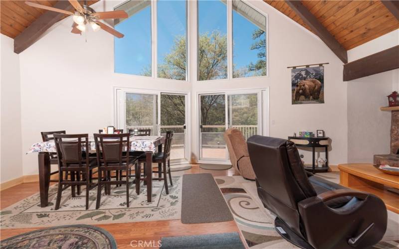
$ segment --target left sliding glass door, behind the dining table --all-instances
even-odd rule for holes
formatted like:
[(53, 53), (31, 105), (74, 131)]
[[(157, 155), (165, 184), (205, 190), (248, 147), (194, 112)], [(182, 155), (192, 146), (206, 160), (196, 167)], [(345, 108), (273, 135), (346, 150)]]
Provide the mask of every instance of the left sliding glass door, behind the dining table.
[(134, 89), (117, 89), (117, 128), (151, 129), (151, 135), (174, 132), (171, 160), (174, 163), (189, 159), (187, 125), (188, 96)]

